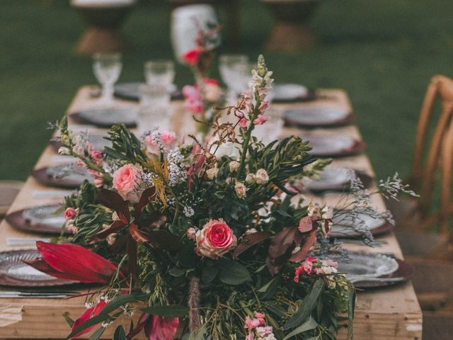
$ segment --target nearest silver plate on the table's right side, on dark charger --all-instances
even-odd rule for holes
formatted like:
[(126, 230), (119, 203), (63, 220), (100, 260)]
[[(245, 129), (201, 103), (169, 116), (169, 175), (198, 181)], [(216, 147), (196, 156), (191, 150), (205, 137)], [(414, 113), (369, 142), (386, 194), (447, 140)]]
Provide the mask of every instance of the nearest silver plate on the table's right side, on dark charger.
[(338, 253), (328, 254), (324, 259), (338, 262), (338, 272), (350, 276), (367, 276), (378, 278), (386, 276), (398, 270), (398, 262), (390, 256), (372, 253), (348, 253), (344, 256)]

